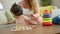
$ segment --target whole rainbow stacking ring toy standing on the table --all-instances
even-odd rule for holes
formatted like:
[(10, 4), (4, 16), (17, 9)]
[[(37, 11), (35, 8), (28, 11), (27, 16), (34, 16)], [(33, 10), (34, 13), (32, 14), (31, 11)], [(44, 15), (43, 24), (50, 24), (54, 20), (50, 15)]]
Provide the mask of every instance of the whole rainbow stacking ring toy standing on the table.
[(52, 25), (52, 18), (51, 14), (48, 10), (45, 10), (43, 13), (43, 26), (51, 26)]

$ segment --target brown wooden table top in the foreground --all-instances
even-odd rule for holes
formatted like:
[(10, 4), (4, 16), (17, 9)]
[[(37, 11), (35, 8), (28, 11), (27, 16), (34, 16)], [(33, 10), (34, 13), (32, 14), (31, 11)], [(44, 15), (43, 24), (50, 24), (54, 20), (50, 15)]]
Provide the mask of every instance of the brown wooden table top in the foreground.
[(60, 25), (38, 26), (30, 31), (11, 31), (11, 27), (0, 28), (0, 34), (55, 34), (60, 32)]

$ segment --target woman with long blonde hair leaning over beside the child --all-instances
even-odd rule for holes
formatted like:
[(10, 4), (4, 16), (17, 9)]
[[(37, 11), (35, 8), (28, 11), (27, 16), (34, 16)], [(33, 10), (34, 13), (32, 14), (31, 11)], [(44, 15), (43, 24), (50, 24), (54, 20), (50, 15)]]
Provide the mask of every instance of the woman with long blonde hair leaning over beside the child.
[(42, 22), (42, 19), (39, 15), (39, 6), (37, 0), (23, 0), (18, 3), (23, 8), (23, 14), (31, 20), (36, 21), (39, 24)]

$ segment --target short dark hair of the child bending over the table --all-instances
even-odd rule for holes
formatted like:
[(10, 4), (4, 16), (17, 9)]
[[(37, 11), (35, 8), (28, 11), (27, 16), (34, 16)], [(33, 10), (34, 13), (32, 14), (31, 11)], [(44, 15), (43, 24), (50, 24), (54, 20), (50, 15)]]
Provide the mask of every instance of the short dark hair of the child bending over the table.
[(21, 6), (18, 6), (16, 3), (14, 3), (10, 9), (11, 13), (13, 13), (15, 16), (20, 16), (23, 14), (23, 9)]

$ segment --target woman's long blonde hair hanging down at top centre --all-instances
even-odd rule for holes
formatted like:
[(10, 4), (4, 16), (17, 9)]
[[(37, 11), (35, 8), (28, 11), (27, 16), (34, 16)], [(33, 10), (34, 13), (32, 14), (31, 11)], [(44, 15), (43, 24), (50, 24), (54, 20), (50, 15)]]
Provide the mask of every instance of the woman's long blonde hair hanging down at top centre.
[(27, 5), (28, 5), (29, 9), (33, 11), (33, 13), (38, 12), (38, 10), (37, 10), (37, 2), (35, 2), (35, 0), (28, 0)]

